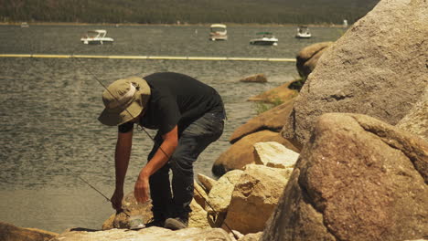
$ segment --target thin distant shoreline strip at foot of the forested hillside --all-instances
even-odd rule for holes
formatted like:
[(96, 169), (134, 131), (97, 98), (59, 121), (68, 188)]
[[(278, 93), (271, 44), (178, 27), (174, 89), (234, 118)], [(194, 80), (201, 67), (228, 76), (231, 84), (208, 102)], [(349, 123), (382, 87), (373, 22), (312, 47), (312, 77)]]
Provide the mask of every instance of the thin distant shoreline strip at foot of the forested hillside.
[[(0, 22), (0, 26), (20, 26), (23, 22)], [(134, 24), (134, 23), (64, 23), (64, 22), (27, 22), (33, 26), (210, 26), (211, 24)], [(342, 25), (333, 24), (237, 24), (237, 23), (222, 23), (227, 26), (311, 26), (311, 27), (343, 27)]]

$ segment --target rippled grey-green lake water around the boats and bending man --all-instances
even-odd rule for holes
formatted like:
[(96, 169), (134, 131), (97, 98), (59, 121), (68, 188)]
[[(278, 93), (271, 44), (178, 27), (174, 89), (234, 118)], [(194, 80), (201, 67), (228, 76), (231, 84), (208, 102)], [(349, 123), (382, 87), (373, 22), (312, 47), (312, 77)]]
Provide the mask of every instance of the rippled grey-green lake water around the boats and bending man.
[[(99, 28), (114, 38), (113, 45), (80, 43), (83, 33)], [(0, 54), (294, 58), (302, 47), (335, 41), (345, 31), (311, 30), (313, 38), (299, 40), (294, 26), (230, 26), (228, 41), (211, 42), (208, 26), (0, 26)], [(249, 45), (260, 31), (273, 32), (278, 46)], [(247, 99), (297, 77), (293, 62), (0, 58), (0, 63), (0, 221), (53, 232), (101, 228), (113, 213), (77, 178), (112, 194), (117, 132), (97, 121), (103, 108), (97, 79), (108, 85), (131, 75), (176, 71), (217, 89), (229, 121), (195, 164), (195, 173), (212, 176), (212, 163), (230, 146), (230, 134), (256, 114)], [(269, 82), (239, 82), (257, 73)], [(134, 134), (125, 193), (133, 191), (151, 147), (144, 132)]]

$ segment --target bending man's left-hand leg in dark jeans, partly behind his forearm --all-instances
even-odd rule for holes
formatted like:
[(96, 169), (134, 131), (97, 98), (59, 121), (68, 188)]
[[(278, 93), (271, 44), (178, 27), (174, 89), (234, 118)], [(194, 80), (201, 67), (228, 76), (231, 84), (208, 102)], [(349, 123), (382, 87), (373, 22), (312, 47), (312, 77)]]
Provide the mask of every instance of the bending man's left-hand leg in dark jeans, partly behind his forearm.
[[(155, 144), (147, 159), (150, 161), (162, 143), (160, 135), (155, 136)], [(164, 226), (172, 205), (171, 187), (169, 182), (169, 163), (167, 162), (161, 169), (153, 173), (149, 178), (150, 196), (152, 198), (152, 213), (154, 222), (150, 225)]]

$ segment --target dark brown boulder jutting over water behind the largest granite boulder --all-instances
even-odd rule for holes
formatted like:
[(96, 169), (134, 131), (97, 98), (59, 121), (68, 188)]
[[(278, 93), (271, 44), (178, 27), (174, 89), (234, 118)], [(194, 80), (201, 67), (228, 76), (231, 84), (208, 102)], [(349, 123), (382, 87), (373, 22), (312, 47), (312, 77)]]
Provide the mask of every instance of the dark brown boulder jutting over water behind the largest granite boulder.
[(324, 53), (324, 51), (330, 47), (333, 42), (322, 42), (310, 45), (302, 48), (295, 57), (295, 67), (300, 77), (306, 79), (307, 76), (316, 68), (316, 62)]

